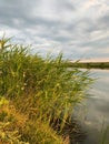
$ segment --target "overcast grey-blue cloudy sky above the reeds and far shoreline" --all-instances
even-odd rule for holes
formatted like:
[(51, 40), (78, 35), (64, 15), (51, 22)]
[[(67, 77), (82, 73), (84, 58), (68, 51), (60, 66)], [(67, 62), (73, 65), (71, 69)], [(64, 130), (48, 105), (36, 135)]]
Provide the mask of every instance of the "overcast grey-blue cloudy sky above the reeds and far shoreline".
[(42, 56), (109, 58), (109, 0), (0, 0), (0, 37)]

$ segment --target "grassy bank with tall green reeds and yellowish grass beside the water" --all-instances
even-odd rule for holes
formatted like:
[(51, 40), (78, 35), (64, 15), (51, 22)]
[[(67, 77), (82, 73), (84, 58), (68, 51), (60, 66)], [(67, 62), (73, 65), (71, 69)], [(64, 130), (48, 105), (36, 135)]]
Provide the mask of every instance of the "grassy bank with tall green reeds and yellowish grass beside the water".
[(0, 40), (0, 143), (63, 144), (65, 124), (91, 81), (66, 63), (62, 54), (43, 59)]

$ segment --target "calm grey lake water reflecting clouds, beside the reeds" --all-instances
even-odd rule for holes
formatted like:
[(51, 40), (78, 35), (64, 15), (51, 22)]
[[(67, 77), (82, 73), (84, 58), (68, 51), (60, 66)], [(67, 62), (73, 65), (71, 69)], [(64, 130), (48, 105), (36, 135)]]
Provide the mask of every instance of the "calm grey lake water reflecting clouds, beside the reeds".
[[(87, 132), (87, 138), (82, 144), (109, 144), (109, 70), (91, 70), (91, 76), (97, 80), (89, 90), (88, 100), (78, 107), (78, 120)], [(106, 132), (106, 131), (105, 131)], [(106, 137), (106, 143), (101, 143)]]

